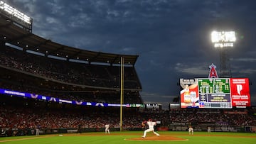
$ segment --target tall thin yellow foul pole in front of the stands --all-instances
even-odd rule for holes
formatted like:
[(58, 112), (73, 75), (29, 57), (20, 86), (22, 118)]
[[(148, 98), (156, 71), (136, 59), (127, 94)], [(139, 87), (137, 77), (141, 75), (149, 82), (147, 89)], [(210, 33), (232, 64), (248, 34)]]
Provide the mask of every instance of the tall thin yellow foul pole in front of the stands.
[(124, 58), (121, 57), (120, 67), (120, 131), (122, 131), (122, 104), (124, 103)]

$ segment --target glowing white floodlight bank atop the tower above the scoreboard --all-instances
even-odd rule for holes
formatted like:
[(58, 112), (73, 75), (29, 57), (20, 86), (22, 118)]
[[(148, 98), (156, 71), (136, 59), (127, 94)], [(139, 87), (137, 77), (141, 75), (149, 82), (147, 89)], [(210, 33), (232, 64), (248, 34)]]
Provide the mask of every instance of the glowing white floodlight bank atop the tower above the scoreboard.
[(235, 31), (213, 31), (211, 40), (215, 48), (233, 47), (236, 40)]

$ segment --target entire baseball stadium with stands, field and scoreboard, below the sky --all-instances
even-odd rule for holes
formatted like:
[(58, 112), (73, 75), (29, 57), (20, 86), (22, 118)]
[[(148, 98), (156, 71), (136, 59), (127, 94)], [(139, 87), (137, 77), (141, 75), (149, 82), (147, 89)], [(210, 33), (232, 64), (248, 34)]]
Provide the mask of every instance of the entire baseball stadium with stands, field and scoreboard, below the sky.
[[(170, 101), (168, 110), (145, 104), (135, 69), (139, 55), (55, 43), (33, 34), (32, 23), (0, 1), (0, 143), (255, 143), (250, 97), (236, 106), (223, 93), (210, 95), (218, 104), (202, 102), (209, 92), (201, 94), (200, 87), (209, 79), (181, 78), (180, 100)], [(233, 84), (249, 87), (247, 78), (212, 81), (230, 84), (231, 95)], [(186, 85), (201, 102), (190, 104)], [(149, 118), (159, 135), (149, 131), (142, 138)]]

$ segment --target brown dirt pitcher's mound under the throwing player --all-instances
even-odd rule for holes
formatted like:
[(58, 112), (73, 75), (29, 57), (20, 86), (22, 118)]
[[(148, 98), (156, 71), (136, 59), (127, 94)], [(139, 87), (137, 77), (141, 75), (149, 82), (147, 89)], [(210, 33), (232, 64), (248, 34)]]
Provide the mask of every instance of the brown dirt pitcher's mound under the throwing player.
[(146, 138), (129, 138), (126, 140), (138, 140), (138, 141), (184, 141), (188, 139), (177, 138), (170, 135), (160, 135), (160, 136), (148, 136)]

